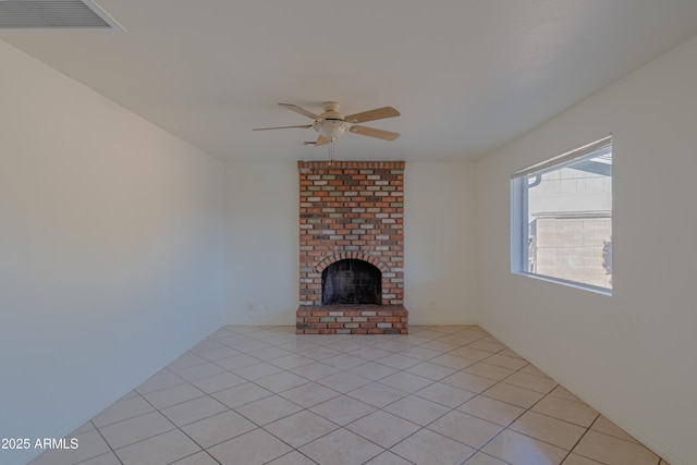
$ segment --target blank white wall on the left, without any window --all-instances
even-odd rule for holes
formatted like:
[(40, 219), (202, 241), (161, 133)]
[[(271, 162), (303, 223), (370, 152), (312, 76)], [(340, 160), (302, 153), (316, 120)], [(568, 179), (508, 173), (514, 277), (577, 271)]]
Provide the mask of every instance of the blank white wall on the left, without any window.
[(222, 163), (0, 62), (0, 437), (61, 438), (222, 323)]

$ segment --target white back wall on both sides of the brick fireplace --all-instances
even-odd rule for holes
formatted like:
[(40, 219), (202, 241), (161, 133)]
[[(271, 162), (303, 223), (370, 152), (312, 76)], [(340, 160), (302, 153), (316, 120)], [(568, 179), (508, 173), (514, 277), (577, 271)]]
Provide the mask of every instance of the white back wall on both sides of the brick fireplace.
[[(227, 322), (295, 325), (297, 163), (230, 162), (227, 173)], [(404, 278), (412, 325), (477, 319), (474, 194), (474, 164), (406, 163)]]

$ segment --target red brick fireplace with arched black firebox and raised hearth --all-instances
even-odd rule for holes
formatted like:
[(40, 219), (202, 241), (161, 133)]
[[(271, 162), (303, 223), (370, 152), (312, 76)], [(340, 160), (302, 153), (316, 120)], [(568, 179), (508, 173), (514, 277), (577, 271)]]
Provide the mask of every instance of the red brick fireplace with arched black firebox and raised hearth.
[(296, 332), (407, 333), (404, 161), (299, 161), (297, 168)]

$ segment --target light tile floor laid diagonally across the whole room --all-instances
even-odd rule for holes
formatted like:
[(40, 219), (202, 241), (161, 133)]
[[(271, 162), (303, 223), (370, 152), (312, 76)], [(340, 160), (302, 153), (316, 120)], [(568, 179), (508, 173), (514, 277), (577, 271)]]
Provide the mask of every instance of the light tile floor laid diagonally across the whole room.
[(32, 465), (668, 465), (479, 327), (224, 327)]

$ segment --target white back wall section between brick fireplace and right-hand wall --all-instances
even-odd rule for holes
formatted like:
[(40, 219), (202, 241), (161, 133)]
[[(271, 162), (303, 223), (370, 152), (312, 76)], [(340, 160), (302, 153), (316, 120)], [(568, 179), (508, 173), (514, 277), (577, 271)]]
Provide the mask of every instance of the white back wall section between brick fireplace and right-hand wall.
[(404, 172), (404, 306), (411, 325), (478, 320), (476, 167), (407, 162)]

